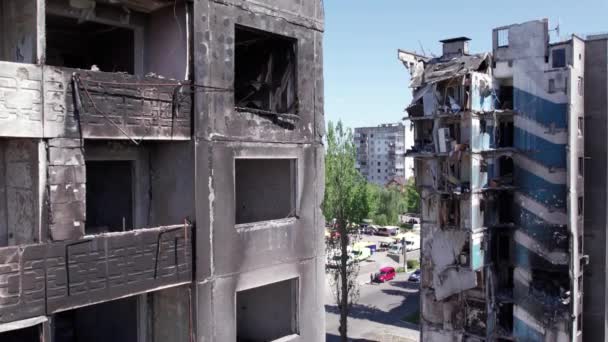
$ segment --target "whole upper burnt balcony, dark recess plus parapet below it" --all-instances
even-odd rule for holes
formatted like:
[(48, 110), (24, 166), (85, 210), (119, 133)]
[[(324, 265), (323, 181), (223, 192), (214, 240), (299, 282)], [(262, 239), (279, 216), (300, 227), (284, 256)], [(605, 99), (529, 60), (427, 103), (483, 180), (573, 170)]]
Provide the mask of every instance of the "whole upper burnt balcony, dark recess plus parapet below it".
[(190, 139), (189, 2), (0, 7), (0, 137)]

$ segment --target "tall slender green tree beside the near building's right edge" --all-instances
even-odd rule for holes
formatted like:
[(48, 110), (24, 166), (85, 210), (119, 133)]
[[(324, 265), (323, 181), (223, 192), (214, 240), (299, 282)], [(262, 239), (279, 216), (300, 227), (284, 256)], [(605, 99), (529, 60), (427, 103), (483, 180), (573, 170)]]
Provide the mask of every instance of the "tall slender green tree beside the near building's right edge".
[(348, 246), (352, 228), (367, 217), (370, 207), (366, 181), (355, 168), (356, 149), (351, 130), (344, 128), (341, 121), (335, 126), (330, 121), (327, 126), (322, 209), (326, 219), (335, 219), (339, 234), (327, 240), (328, 255), (340, 256), (337, 267), (328, 270), (332, 273), (332, 289), (340, 311), (340, 337), (346, 342), (348, 313), (358, 298), (358, 265), (354, 258), (349, 260)]

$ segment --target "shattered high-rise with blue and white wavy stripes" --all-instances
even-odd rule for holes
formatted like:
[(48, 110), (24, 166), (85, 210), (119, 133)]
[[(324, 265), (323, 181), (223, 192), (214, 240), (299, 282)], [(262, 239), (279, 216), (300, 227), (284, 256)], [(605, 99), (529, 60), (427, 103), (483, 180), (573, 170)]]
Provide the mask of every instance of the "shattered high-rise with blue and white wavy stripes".
[(399, 51), (423, 341), (582, 340), (586, 41), (549, 36), (538, 20), (494, 29), (491, 53), (466, 37), (441, 57)]

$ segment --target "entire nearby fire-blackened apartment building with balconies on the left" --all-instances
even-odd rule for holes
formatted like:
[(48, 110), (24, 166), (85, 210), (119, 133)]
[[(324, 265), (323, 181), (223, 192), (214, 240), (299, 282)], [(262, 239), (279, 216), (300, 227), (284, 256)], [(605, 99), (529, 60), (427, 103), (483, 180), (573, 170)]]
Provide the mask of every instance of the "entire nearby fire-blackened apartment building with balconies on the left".
[(324, 339), (323, 8), (0, 1), (0, 341)]

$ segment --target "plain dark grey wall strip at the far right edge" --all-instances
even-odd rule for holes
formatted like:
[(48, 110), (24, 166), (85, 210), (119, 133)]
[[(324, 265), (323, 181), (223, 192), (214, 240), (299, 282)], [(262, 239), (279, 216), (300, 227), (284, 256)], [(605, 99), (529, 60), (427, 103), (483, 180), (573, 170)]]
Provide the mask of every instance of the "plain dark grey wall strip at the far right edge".
[(589, 255), (583, 289), (584, 341), (606, 340), (606, 193), (608, 167), (608, 40), (585, 44), (585, 220), (584, 253)]

